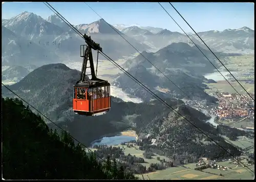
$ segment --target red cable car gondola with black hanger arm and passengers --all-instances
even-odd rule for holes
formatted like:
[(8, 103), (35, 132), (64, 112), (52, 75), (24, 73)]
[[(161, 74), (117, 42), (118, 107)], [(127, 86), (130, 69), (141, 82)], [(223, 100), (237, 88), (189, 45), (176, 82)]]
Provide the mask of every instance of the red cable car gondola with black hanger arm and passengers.
[[(80, 57), (83, 57), (81, 78), (74, 85), (73, 111), (79, 115), (95, 116), (110, 110), (110, 83), (96, 77), (93, 64), (92, 49), (97, 51), (97, 66), (99, 51), (102, 48), (90, 36), (83, 35), (88, 45), (80, 46)], [(84, 48), (86, 48), (84, 50)], [(88, 60), (92, 78), (88, 79), (86, 69)], [(96, 69), (97, 72), (97, 69)]]

